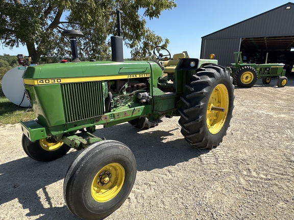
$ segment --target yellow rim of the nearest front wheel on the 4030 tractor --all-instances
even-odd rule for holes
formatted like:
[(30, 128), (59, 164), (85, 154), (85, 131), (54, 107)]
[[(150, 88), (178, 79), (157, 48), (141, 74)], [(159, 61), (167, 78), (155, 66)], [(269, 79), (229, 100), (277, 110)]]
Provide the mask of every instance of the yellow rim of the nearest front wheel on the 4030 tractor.
[(97, 202), (107, 202), (113, 199), (125, 182), (125, 169), (119, 163), (109, 163), (94, 177), (91, 194)]

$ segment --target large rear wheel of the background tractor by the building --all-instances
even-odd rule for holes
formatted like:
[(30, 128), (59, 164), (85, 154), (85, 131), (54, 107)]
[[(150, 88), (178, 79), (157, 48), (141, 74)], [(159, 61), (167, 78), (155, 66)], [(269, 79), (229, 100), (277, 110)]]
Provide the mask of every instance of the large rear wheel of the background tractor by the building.
[(251, 66), (244, 66), (234, 74), (234, 84), (239, 87), (250, 88), (256, 84), (257, 72)]

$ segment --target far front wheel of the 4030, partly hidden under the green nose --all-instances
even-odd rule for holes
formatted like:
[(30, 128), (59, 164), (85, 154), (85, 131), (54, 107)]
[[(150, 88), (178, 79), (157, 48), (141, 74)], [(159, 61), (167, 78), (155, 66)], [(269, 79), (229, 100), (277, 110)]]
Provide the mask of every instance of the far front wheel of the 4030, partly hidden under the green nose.
[(59, 141), (56, 143), (47, 142), (41, 139), (31, 142), (30, 139), (22, 134), (21, 144), (24, 152), (34, 160), (48, 162), (64, 156), (70, 149), (69, 146)]

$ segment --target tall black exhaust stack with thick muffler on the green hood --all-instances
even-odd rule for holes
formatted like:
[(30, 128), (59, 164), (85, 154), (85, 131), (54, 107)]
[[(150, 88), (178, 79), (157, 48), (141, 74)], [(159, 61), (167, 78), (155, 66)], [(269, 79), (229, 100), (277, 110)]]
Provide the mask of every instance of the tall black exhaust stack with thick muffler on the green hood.
[(111, 56), (114, 62), (124, 61), (124, 50), (122, 48), (122, 37), (121, 37), (121, 23), (120, 15), (125, 16), (124, 12), (117, 10), (117, 36), (110, 37), (111, 40)]

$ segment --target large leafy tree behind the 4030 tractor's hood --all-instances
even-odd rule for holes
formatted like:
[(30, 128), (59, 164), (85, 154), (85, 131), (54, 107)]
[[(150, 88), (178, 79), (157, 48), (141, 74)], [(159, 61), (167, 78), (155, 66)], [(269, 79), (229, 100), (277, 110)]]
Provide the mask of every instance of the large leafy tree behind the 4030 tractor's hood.
[(0, 4), (0, 44), (10, 48), (26, 45), (34, 63), (41, 56), (70, 57), (68, 39), (61, 36), (70, 29), (84, 34), (78, 39), (81, 59), (109, 59), (117, 9), (126, 14), (121, 19), (122, 37), (132, 58), (151, 59), (152, 48), (167, 46), (168, 39), (146, 28), (144, 17), (159, 18), (163, 10), (176, 7), (174, 0), (0, 0)]

